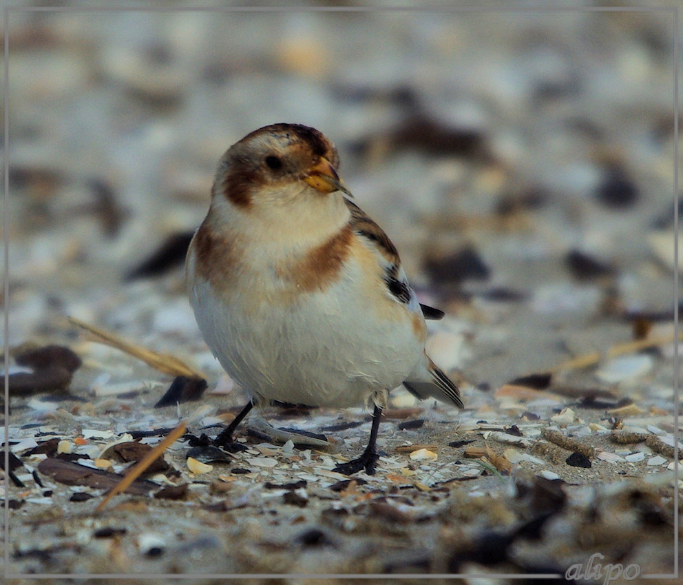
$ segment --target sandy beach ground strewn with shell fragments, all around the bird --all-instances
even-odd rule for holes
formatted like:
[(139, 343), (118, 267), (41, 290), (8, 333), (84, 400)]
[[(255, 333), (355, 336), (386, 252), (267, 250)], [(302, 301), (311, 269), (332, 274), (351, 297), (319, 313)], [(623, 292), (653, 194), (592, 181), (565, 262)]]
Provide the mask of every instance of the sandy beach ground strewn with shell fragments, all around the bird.
[[(21, 462), (3, 490), (8, 582), (507, 583), (596, 553), (622, 571), (613, 582), (671, 576), (671, 13), (12, 12), (9, 24), (6, 367), (34, 378), (6, 421)], [(246, 402), (193, 320), (182, 238), (222, 152), (280, 121), (335, 141), (356, 203), (421, 300), (446, 311), (428, 351), (465, 409), (397, 389), (377, 474), (345, 478), (330, 470), (364, 447), (364, 409), (273, 408), (274, 427), (324, 433), (328, 447), (249, 434), (252, 418), (244, 451), (193, 451), (211, 460), (199, 473), (176, 442), (145, 476), (154, 485), (96, 513), (106, 489), (87, 466), (129, 465), (107, 447), (181, 419), (212, 437)], [(174, 237), (158, 271), (130, 278)], [(207, 391), (155, 409), (174, 376), (67, 316), (185, 360)], [(54, 371), (45, 382), (19, 363), (47, 345), (82, 360), (59, 390)], [(81, 466), (71, 484), (54, 472), (68, 463), (57, 444)], [(150, 495), (162, 487), (176, 499)]]

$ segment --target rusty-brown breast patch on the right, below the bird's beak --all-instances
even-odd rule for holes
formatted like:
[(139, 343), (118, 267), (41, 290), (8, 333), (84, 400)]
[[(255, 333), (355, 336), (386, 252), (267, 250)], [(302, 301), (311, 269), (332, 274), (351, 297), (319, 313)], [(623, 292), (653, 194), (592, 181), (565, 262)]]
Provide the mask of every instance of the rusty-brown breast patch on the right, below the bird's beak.
[(324, 290), (333, 283), (350, 252), (353, 230), (346, 225), (339, 234), (308, 252), (289, 274), (302, 291)]

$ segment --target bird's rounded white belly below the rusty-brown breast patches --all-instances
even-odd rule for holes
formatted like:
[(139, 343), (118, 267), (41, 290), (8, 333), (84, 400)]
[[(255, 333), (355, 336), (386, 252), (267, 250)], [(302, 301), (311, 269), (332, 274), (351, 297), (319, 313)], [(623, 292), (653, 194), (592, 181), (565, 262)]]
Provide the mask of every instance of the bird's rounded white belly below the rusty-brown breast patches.
[[(188, 262), (190, 302), (204, 340), (222, 367), (258, 398), (311, 406), (363, 404), (397, 387), (423, 347), (405, 318), (386, 318), (363, 294), (350, 259), (324, 291), (283, 294), (258, 271), (220, 298)], [(296, 292), (296, 291), (295, 291)], [(386, 302), (394, 302), (386, 299)]]

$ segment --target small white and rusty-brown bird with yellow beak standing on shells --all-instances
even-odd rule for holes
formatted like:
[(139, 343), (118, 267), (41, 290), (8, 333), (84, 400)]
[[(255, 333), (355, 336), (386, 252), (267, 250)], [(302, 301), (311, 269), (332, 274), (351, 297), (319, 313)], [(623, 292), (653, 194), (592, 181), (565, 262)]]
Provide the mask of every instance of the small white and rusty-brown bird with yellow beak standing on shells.
[(392, 389), (463, 400), (425, 353), (425, 319), (443, 311), (418, 302), (395, 245), (338, 168), (335, 145), (301, 124), (267, 125), (229, 147), (189, 245), (187, 291), (213, 356), (250, 396), (216, 444), (254, 406), (366, 405), (368, 445), (333, 471), (371, 475)]

